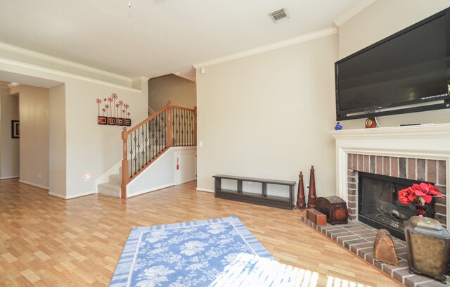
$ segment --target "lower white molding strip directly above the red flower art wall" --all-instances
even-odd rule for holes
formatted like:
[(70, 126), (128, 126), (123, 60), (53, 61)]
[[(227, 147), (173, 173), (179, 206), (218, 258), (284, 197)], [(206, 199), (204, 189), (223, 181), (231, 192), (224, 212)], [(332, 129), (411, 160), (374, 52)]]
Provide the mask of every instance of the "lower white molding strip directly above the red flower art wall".
[[(61, 72), (59, 70), (52, 70), (49, 68), (43, 68), (37, 65), (31, 65), (28, 63), (23, 63), (23, 62), (19, 62), (19, 61), (15, 61), (15, 60), (9, 60), (6, 58), (0, 58), (0, 63), (4, 63), (7, 65), (13, 65), (16, 67), (21, 67), (21, 68), (26, 68), (26, 69), (30, 69), (30, 70), (34, 70), (34, 71), (39, 71), (39, 72), (47, 72), (49, 74), (52, 75), (57, 75), (57, 76), (61, 76), (61, 77), (69, 77), (72, 79), (79, 79), (82, 81), (86, 81), (86, 82), (91, 82), (94, 84), (102, 84), (103, 86), (107, 86), (107, 87), (113, 87), (113, 88), (117, 88), (117, 89), (123, 89), (125, 91), (133, 91), (133, 92), (141, 92), (140, 89), (134, 89), (134, 88), (130, 88), (130, 87), (125, 87), (125, 86), (121, 86), (120, 84), (113, 84), (110, 82), (104, 82), (101, 81), (99, 79), (91, 79), (90, 77), (84, 77), (84, 76), (80, 76), (80, 75), (75, 75), (75, 74), (71, 74), (69, 72)], [(53, 80), (56, 81), (56, 80)], [(56, 82), (60, 82), (60, 81), (56, 81)]]

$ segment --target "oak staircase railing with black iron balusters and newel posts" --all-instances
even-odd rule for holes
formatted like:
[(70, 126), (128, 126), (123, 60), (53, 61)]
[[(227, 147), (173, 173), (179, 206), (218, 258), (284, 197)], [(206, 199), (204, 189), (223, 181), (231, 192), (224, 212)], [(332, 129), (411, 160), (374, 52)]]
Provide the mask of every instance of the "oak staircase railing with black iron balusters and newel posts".
[(122, 131), (122, 192), (127, 198), (127, 184), (172, 146), (197, 143), (197, 108), (174, 106), (170, 101), (127, 131)]

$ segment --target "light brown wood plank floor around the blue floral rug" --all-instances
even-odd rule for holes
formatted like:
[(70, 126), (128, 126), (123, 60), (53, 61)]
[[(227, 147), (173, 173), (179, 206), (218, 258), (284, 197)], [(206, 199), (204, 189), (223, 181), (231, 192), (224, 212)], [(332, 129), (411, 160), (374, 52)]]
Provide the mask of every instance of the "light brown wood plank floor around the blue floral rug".
[(62, 200), (15, 179), (0, 181), (0, 286), (108, 286), (131, 227), (230, 215), (280, 262), (318, 272), (317, 286), (328, 276), (401, 286), (301, 222), (300, 210), (217, 199), (195, 181), (129, 200)]

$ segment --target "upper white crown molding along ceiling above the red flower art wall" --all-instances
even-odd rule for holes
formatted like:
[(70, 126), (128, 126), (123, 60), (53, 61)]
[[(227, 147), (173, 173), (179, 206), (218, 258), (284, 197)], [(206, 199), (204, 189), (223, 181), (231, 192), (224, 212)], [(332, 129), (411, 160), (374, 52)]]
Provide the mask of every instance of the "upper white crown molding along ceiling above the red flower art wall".
[(84, 70), (86, 72), (93, 72), (95, 74), (103, 75), (105, 77), (112, 77), (112, 78), (115, 78), (115, 79), (120, 79), (122, 81), (131, 82), (131, 78), (125, 77), (125, 76), (122, 76), (122, 75), (117, 75), (117, 74), (115, 74), (113, 72), (108, 72), (108, 71), (105, 71), (105, 70), (92, 68), (92, 67), (89, 67), (87, 65), (82, 65), (82, 64), (79, 64), (79, 63), (72, 62), (70, 60), (63, 60), (61, 58), (56, 58), (56, 57), (53, 57), (53, 56), (46, 55), (44, 53), (38, 53), (38, 52), (35, 52), (35, 51), (19, 48), (17, 46), (8, 45), (8, 44), (2, 43), (2, 42), (0, 42), (0, 49), (4, 49), (6, 51), (11, 51), (11, 52), (14, 52), (14, 53), (19, 53), (20, 55), (24, 55), (24, 56), (31, 56), (31, 57), (34, 57), (34, 58), (38, 58), (40, 60), (46, 60), (46, 61), (49, 61), (51, 63), (57, 63), (57, 64), (60, 64), (60, 65), (66, 65), (68, 67), (77, 68), (79, 70)]

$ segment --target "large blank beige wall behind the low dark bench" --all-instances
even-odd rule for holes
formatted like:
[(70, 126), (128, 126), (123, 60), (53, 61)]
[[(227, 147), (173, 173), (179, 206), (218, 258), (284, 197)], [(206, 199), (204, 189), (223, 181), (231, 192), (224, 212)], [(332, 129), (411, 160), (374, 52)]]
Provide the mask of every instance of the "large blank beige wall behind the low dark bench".
[(308, 183), (314, 165), (334, 195), (335, 60), (338, 34), (198, 69), (198, 189), (214, 174)]

